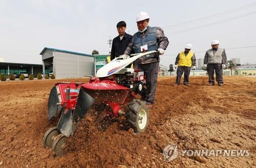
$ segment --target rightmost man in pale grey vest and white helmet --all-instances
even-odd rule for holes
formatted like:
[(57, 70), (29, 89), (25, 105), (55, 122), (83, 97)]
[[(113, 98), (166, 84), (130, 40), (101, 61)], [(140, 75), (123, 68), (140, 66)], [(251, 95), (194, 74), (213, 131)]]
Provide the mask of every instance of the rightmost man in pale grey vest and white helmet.
[(209, 86), (214, 86), (214, 71), (219, 86), (223, 86), (222, 69), (225, 68), (227, 56), (224, 48), (219, 48), (219, 41), (211, 42), (211, 49), (207, 50), (204, 56), (204, 67), (207, 67), (209, 75)]

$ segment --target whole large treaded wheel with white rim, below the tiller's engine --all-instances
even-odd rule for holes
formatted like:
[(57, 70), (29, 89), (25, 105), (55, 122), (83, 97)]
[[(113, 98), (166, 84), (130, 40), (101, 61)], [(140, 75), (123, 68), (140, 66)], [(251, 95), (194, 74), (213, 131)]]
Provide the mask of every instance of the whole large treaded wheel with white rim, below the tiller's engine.
[(146, 130), (150, 122), (150, 113), (145, 101), (134, 99), (129, 103), (129, 110), (126, 113), (126, 121), (134, 129), (134, 133), (138, 134)]

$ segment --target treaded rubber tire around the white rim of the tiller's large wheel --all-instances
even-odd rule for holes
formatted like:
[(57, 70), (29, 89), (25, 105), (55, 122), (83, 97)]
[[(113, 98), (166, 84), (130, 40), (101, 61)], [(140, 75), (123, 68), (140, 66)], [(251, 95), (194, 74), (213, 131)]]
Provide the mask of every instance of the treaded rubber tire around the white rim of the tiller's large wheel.
[[(146, 124), (144, 128), (139, 127), (139, 113), (141, 110), (144, 110), (146, 113)], [(127, 110), (126, 113), (126, 121), (130, 124), (131, 128), (133, 128), (134, 134), (139, 134), (145, 131), (150, 123), (150, 113), (148, 107), (146, 106), (146, 102), (139, 99), (134, 99), (131, 103), (129, 103), (129, 110)]]

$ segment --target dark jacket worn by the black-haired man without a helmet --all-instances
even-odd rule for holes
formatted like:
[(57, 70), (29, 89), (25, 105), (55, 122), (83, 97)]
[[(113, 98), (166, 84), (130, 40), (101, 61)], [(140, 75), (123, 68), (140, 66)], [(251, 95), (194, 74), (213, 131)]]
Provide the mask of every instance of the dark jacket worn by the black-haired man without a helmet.
[(122, 40), (117, 36), (113, 39), (112, 48), (111, 48), (111, 60), (122, 55), (128, 44), (132, 41), (133, 36), (127, 33), (124, 33)]

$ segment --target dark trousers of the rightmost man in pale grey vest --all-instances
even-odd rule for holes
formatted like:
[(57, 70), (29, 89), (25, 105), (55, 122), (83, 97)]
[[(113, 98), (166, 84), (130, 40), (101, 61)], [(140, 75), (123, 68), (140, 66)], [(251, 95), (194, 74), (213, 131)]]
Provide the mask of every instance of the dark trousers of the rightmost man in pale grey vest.
[(209, 75), (209, 83), (214, 83), (214, 71), (216, 73), (216, 81), (223, 83), (221, 64), (207, 64), (207, 72)]

